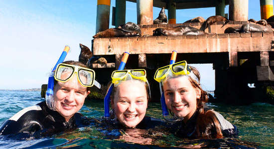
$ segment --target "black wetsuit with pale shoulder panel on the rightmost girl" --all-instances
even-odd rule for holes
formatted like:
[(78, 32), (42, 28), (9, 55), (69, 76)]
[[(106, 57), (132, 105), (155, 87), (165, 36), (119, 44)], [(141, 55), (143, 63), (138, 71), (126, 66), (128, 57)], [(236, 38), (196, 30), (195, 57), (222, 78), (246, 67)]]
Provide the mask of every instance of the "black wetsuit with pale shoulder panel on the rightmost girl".
[[(209, 109), (207, 106), (204, 108), (205, 112)], [(238, 129), (235, 125), (228, 122), (220, 113), (212, 110), (218, 119), (222, 134), (224, 137), (233, 137), (238, 135)], [(184, 137), (184, 138), (196, 138), (195, 132), (196, 132), (196, 121), (198, 117), (198, 111), (195, 111), (195, 113), (190, 117), (190, 119), (186, 122), (186, 124), (183, 121), (179, 122), (179, 130), (176, 132), (176, 135), (178, 137)]]

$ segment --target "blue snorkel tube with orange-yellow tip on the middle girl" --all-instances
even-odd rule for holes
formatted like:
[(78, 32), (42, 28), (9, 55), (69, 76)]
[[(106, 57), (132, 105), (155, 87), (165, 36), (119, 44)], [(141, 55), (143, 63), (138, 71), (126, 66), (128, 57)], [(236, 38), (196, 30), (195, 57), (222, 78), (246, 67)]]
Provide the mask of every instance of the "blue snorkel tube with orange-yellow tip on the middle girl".
[[(124, 70), (125, 65), (127, 63), (127, 60), (129, 58), (129, 55), (130, 54), (128, 52), (124, 53), (122, 61), (121, 61), (120, 66), (118, 68), (118, 71)], [(104, 115), (104, 117), (106, 119), (108, 119), (110, 117), (110, 101), (111, 101), (110, 96), (111, 96), (111, 92), (113, 90), (113, 87), (114, 87), (114, 85), (111, 84), (111, 86), (110, 86), (110, 88), (108, 90), (108, 93), (106, 94), (106, 96), (104, 98), (104, 108), (105, 108), (105, 115)]]

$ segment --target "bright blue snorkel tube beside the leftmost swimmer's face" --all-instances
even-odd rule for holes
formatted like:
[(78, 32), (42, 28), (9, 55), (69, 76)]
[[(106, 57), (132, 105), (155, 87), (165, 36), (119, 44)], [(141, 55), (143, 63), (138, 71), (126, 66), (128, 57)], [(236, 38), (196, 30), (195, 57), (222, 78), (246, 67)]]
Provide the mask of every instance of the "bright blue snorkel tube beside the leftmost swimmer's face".
[(55, 108), (55, 105), (53, 102), (53, 100), (54, 100), (53, 99), (54, 72), (56, 70), (57, 65), (64, 62), (64, 59), (66, 58), (69, 50), (70, 50), (69, 46), (65, 46), (64, 51), (62, 52), (59, 60), (55, 64), (54, 68), (52, 69), (52, 71), (48, 77), (48, 85), (47, 85), (47, 91), (46, 91), (46, 103), (47, 103), (48, 108), (50, 108), (52, 110)]

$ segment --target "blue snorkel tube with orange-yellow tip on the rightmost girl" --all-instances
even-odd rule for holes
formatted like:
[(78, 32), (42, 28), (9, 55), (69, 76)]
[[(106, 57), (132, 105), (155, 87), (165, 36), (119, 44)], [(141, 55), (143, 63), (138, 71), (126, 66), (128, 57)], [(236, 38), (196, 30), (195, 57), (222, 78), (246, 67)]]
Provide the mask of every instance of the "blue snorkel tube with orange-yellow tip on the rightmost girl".
[[(177, 51), (172, 51), (171, 59), (170, 59), (169, 65), (175, 63), (176, 56), (177, 56)], [(163, 91), (162, 91), (161, 82), (159, 82), (159, 86), (160, 86), (160, 92), (161, 92), (162, 114), (163, 114), (163, 117), (165, 118), (165, 117), (168, 115), (168, 111), (167, 111), (167, 106), (166, 106), (166, 104), (165, 104), (165, 99), (164, 99), (164, 94), (163, 94)], [(168, 119), (165, 119), (165, 120), (169, 121)]]

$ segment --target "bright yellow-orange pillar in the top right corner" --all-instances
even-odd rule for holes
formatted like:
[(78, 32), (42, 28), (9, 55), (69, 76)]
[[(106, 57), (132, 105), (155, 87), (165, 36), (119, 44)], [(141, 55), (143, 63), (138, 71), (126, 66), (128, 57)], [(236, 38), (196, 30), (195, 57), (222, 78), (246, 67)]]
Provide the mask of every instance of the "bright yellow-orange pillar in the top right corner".
[(273, 0), (260, 0), (261, 19), (268, 19), (273, 16)]

